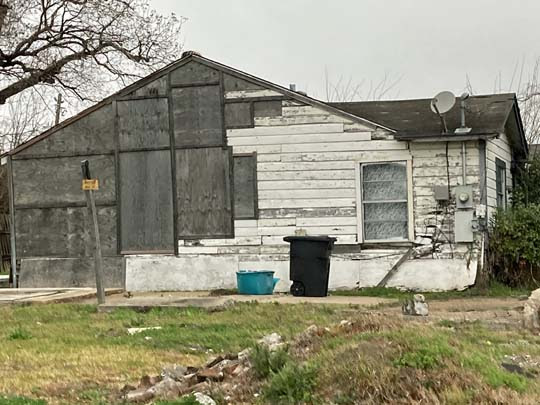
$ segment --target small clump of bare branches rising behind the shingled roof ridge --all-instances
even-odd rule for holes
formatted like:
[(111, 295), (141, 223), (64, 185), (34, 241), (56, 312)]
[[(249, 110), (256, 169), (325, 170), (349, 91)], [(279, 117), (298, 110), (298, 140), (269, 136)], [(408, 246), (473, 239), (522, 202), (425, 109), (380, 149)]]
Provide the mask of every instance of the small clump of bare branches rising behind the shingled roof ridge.
[(325, 98), (329, 103), (332, 102), (350, 102), (355, 100), (382, 100), (389, 96), (389, 93), (399, 84), (402, 76), (392, 78), (390, 74), (385, 73), (379, 82), (366, 80), (355, 82), (352, 77), (345, 80), (340, 76), (338, 80), (333, 81), (330, 78), (328, 69), (324, 69), (324, 89)]

